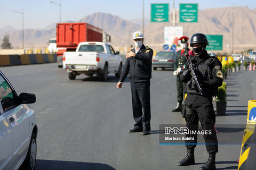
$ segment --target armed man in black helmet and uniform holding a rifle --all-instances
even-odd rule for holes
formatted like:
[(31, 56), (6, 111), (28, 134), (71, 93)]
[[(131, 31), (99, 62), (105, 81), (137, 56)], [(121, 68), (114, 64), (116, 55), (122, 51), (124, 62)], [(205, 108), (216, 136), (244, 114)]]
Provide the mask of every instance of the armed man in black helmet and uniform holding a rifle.
[[(215, 112), (212, 106), (212, 97), (218, 94), (218, 87), (222, 85), (223, 74), (221, 71), (221, 62), (217, 57), (211, 57), (205, 50), (209, 45), (208, 40), (202, 33), (196, 33), (191, 37), (190, 46), (193, 47), (195, 53), (191, 57), (191, 65), (193, 65), (199, 86), (196, 85), (196, 79), (191, 75), (188, 63), (186, 63), (179, 74), (180, 80), (186, 82), (185, 92), (187, 97), (184, 101), (185, 120), (189, 132), (198, 130), (198, 120), (201, 122), (204, 132), (204, 140), (206, 150), (209, 153), (208, 161), (201, 169), (215, 169), (215, 154), (218, 152), (217, 135), (214, 130)], [(178, 163), (179, 166), (194, 165), (194, 148), (197, 143), (197, 134), (186, 134), (187, 156)], [(193, 138), (190, 138), (193, 137)], [(191, 144), (189, 144), (191, 143)], [(193, 144), (192, 144), (193, 143)]]

